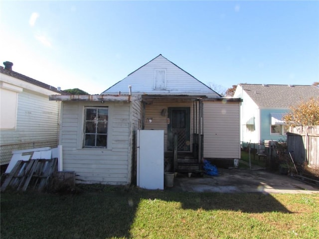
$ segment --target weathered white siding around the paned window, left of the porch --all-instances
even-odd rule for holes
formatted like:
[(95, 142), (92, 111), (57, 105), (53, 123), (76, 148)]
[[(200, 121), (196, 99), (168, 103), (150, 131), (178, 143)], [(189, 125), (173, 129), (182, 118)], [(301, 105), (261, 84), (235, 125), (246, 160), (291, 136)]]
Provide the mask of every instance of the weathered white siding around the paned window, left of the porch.
[[(82, 148), (84, 106), (109, 107), (107, 148)], [(129, 184), (133, 157), (130, 144), (139, 109), (139, 104), (133, 103), (63, 102), (63, 170), (75, 171), (77, 183)]]

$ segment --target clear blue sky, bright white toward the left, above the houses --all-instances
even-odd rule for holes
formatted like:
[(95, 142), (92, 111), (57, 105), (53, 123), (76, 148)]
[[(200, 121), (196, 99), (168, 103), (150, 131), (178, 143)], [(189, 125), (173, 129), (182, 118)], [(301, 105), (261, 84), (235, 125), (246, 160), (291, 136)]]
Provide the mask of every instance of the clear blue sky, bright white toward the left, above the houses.
[(0, 65), (103, 91), (162, 54), (217, 92), (319, 81), (319, 1), (1, 0)]

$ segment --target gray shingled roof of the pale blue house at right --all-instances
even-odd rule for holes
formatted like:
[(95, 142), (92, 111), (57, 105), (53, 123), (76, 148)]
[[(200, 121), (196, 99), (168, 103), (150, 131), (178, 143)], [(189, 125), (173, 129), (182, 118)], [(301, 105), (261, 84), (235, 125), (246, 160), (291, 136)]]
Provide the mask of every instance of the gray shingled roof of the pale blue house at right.
[(319, 88), (316, 86), (239, 85), (260, 108), (289, 108), (312, 97), (319, 100)]

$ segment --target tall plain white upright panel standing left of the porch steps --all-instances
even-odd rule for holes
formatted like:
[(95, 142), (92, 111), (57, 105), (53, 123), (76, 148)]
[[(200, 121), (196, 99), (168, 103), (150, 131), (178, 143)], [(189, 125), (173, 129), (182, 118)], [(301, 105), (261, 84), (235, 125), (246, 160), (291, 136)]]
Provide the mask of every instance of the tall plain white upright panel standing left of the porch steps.
[(164, 130), (138, 130), (137, 186), (164, 189)]

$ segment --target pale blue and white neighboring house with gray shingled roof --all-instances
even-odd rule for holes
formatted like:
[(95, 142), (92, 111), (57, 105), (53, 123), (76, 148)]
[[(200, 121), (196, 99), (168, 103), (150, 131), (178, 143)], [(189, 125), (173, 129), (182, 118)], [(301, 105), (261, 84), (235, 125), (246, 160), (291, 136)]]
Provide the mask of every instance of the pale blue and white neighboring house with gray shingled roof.
[(241, 111), (242, 142), (286, 141), (288, 125), (283, 115), (289, 107), (319, 97), (319, 88), (305, 85), (239, 84), (234, 97), (243, 99)]

